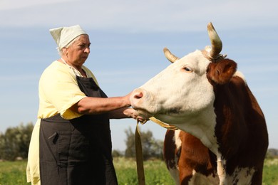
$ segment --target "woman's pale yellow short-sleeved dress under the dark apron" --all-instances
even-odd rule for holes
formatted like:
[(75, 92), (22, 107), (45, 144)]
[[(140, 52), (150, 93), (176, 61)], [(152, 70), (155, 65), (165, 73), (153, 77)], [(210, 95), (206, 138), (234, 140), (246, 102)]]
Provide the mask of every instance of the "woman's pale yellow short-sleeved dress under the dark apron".
[[(85, 66), (82, 67), (87, 77), (93, 78), (98, 84), (95, 76)], [(86, 95), (77, 84), (76, 75), (81, 75), (69, 65), (58, 62), (51, 63), (43, 71), (38, 83), (38, 120), (34, 126), (29, 146), (28, 163), (26, 168), (27, 181), (32, 184), (41, 184), (39, 176), (39, 154), (38, 136), (41, 119), (61, 114), (66, 120), (80, 117), (81, 114), (73, 112), (70, 107)]]

